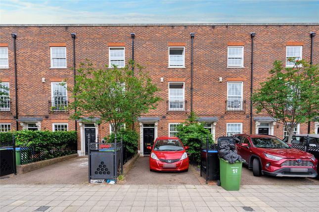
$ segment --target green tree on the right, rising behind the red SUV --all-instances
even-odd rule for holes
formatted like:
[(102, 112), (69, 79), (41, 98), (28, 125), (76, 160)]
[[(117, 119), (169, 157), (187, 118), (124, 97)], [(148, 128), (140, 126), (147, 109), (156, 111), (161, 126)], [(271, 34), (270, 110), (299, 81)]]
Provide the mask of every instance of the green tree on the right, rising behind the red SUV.
[(288, 61), (294, 67), (284, 68), (281, 61), (274, 61), (270, 77), (255, 90), (252, 100), (257, 113), (266, 112), (285, 126), (290, 143), (298, 123), (318, 116), (319, 75), (318, 65), (294, 58)]

